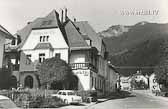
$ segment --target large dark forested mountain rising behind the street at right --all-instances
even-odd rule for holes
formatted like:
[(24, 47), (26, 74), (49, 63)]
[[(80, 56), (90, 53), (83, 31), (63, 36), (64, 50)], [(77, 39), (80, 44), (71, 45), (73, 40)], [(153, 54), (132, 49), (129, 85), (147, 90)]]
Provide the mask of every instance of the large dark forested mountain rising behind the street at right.
[(117, 37), (105, 36), (103, 40), (109, 60), (125, 76), (138, 69), (151, 73), (156, 65), (168, 58), (168, 24), (140, 22)]

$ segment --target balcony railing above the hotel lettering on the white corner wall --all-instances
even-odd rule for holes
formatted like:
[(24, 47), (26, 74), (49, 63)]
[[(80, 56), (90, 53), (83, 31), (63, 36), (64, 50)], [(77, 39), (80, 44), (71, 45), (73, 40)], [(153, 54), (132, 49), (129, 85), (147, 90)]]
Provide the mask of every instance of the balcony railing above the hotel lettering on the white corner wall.
[(72, 63), (70, 64), (72, 70), (78, 70), (78, 69), (82, 69), (82, 70), (87, 70), (90, 69), (92, 71), (94, 71), (95, 73), (98, 72), (97, 68), (91, 64), (91, 63)]

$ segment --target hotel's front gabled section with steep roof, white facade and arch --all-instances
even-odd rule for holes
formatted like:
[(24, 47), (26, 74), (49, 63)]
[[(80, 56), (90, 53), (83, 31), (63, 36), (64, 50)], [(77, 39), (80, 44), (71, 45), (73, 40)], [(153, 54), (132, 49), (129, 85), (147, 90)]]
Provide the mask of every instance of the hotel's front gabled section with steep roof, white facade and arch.
[[(20, 47), (20, 83), (24, 87), (38, 87), (34, 74), (38, 63), (47, 58), (59, 57), (68, 63), (68, 44), (63, 35), (58, 13), (53, 10), (46, 17), (30, 23), (31, 29)], [(28, 24), (29, 25), (29, 24)]]

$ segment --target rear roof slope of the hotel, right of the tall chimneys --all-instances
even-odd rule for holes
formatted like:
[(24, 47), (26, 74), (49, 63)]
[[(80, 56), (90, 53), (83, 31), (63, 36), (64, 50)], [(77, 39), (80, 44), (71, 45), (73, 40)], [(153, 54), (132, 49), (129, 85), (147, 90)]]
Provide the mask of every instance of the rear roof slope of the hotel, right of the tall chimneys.
[(101, 51), (102, 38), (97, 36), (97, 33), (89, 25), (87, 21), (74, 22), (79, 32), (83, 35), (87, 35), (92, 40), (92, 46), (96, 47), (97, 50)]

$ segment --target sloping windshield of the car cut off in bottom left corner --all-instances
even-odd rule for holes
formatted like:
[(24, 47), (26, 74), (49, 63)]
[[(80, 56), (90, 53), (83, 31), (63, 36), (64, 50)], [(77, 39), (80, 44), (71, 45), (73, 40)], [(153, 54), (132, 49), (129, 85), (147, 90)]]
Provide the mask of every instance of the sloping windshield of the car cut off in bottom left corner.
[(0, 108), (17, 108), (17, 106), (9, 99), (0, 100)]

